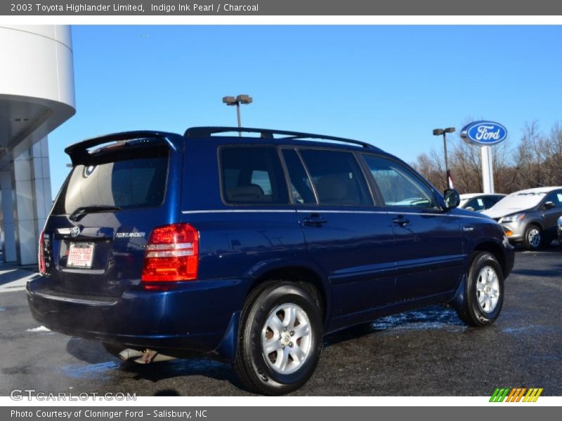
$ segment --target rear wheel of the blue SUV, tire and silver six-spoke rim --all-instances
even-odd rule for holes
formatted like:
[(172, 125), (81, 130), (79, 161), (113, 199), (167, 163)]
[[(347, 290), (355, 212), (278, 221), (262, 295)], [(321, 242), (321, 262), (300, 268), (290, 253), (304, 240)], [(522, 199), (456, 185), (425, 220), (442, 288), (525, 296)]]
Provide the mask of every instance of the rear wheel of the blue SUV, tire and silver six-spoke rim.
[(287, 394), (313, 374), (322, 350), (322, 317), (311, 288), (272, 281), (244, 303), (233, 366), (249, 391)]

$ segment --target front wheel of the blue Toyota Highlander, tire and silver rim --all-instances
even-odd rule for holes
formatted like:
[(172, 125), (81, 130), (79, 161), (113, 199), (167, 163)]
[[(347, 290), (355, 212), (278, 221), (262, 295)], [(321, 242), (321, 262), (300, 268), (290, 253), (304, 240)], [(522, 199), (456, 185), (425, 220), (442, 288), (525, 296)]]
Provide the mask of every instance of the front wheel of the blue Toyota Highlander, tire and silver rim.
[(459, 319), (469, 326), (486, 326), (497, 319), (503, 303), (502, 267), (491, 253), (477, 253), (466, 276), (464, 300), (457, 307)]

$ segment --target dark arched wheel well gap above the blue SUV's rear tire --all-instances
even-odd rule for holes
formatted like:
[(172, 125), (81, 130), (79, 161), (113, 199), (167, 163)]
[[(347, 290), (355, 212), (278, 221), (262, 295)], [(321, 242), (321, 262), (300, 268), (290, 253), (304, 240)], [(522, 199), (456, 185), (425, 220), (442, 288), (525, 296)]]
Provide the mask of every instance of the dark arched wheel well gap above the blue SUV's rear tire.
[(326, 321), (327, 317), (327, 293), (322, 283), (320, 276), (313, 272), (311, 269), (306, 267), (283, 267), (280, 269), (273, 269), (259, 276), (258, 279), (251, 286), (248, 294), (256, 288), (256, 286), (261, 285), (267, 281), (273, 280), (284, 280), (284, 281), (295, 281), (307, 288), (309, 292), (313, 295), (313, 298), (318, 303), (320, 307), (320, 314), (322, 314), (322, 321)]

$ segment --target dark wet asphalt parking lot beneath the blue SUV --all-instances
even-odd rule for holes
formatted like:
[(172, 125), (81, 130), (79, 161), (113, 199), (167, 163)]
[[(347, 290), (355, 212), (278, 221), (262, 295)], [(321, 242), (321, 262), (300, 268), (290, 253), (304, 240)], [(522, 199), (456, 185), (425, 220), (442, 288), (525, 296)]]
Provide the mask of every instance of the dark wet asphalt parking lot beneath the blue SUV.
[[(29, 272), (29, 277), (34, 276)], [(0, 276), (0, 395), (129, 392), (139, 396), (248, 394), (226, 363), (121, 363), (97, 342), (41, 328), (22, 282)], [(4, 285), (5, 288), (2, 288)], [(12, 289), (6, 287), (11, 286)], [(543, 387), (562, 395), (562, 246), (518, 251), (492, 326), (467, 328), (452, 309), (429, 307), (325, 338), (297, 396), (490, 396), (495, 387)]]

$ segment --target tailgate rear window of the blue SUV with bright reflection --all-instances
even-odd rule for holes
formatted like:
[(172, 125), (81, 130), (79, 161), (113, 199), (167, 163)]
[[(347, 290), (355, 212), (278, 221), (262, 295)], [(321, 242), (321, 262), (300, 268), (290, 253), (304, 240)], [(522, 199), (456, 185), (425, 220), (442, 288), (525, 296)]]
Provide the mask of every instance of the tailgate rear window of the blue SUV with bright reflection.
[(53, 213), (65, 215), (82, 206), (159, 206), (164, 201), (167, 172), (167, 155), (75, 166)]

